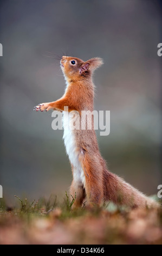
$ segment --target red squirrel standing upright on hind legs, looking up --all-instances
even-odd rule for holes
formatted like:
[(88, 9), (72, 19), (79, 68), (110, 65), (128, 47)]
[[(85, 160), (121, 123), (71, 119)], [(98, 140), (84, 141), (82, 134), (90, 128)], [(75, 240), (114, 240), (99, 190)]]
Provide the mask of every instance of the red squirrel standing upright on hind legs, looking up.
[[(63, 56), (60, 64), (67, 83), (64, 95), (59, 100), (37, 105), (35, 110), (64, 112), (66, 106), (68, 112), (77, 111), (81, 118), (81, 111), (94, 109), (92, 75), (103, 64), (103, 60), (92, 58), (84, 62), (79, 58)], [(92, 130), (64, 130), (63, 139), (73, 172), (70, 186), (70, 194), (73, 197), (76, 194), (73, 208), (79, 208), (85, 198), (89, 206), (100, 206), (111, 200), (117, 205), (131, 208), (159, 207), (157, 202), (109, 172), (100, 154), (93, 126)]]

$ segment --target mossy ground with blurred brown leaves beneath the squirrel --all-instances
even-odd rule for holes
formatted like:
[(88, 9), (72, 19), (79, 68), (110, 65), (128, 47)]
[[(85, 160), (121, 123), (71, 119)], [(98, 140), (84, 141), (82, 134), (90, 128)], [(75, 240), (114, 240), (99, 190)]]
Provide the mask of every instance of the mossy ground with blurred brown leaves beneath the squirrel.
[(0, 244), (162, 244), (162, 210), (124, 209), (113, 204), (101, 209), (71, 210), (54, 195), (9, 208), (0, 199)]

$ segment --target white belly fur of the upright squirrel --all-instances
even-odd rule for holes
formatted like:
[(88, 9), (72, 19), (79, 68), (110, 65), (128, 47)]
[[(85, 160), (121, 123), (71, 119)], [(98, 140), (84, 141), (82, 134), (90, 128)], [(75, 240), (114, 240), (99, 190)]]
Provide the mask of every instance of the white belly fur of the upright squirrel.
[[(70, 119), (70, 118), (69, 118)], [(74, 119), (73, 119), (74, 122)], [(63, 117), (63, 127), (64, 125), (64, 117)], [(64, 129), (63, 133), (64, 145), (66, 147), (67, 155), (69, 156), (70, 162), (73, 164), (73, 178), (79, 184), (82, 184), (85, 187), (85, 174), (81, 167), (81, 163), (79, 161), (79, 152), (77, 150), (77, 145), (75, 141), (75, 132), (70, 129), (70, 120), (69, 120), (69, 129)]]

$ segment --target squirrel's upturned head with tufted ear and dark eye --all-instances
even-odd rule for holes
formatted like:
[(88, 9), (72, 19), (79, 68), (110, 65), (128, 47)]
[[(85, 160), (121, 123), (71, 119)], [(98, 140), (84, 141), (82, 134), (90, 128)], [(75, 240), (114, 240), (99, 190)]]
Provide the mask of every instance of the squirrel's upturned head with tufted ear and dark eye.
[(103, 64), (101, 58), (92, 58), (84, 62), (82, 59), (62, 56), (61, 69), (67, 80), (79, 80), (81, 77), (89, 77), (93, 71)]

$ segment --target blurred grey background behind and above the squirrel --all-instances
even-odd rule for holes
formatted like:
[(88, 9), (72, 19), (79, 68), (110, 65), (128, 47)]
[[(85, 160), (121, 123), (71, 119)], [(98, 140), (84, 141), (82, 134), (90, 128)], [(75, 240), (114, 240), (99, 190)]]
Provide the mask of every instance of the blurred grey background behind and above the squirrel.
[[(102, 57), (94, 75), (95, 109), (111, 111), (111, 132), (99, 136), (109, 169), (142, 192), (157, 193), (161, 171), (160, 1), (1, 1), (1, 173), (9, 204), (64, 196), (72, 174), (63, 131), (51, 112), (65, 82), (55, 54)], [(160, 41), (161, 40), (161, 41)]]

